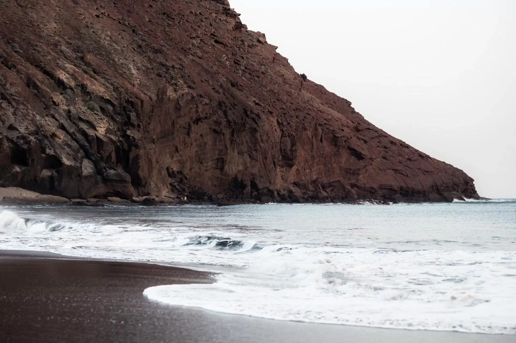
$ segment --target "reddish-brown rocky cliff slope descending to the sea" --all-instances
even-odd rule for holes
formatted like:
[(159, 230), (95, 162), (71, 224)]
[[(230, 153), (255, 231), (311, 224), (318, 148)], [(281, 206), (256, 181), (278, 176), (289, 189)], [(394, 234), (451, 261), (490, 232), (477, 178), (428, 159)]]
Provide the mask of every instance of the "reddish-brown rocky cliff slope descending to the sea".
[(0, 0), (0, 186), (447, 201), (473, 179), (296, 73), (225, 0)]

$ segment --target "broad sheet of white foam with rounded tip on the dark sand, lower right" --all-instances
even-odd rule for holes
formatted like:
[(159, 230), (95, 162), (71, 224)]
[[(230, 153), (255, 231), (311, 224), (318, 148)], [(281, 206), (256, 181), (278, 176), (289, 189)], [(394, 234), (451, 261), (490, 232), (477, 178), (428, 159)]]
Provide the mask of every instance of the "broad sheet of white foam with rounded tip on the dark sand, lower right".
[(279, 320), (516, 334), (516, 253), (268, 247), (209, 285), (149, 299)]

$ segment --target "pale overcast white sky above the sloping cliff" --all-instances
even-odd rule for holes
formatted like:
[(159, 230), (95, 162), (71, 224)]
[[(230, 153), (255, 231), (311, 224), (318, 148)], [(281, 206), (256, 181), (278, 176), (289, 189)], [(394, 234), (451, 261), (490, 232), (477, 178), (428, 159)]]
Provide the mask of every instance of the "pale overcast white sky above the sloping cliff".
[(298, 73), (516, 198), (515, 0), (230, 0)]

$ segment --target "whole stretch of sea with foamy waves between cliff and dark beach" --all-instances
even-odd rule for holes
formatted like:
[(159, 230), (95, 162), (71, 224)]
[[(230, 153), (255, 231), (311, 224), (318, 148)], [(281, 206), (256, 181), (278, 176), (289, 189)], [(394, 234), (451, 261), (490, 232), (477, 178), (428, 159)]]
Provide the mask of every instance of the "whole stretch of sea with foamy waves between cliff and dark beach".
[(3, 207), (0, 249), (173, 264), (151, 300), (278, 320), (516, 334), (516, 201)]

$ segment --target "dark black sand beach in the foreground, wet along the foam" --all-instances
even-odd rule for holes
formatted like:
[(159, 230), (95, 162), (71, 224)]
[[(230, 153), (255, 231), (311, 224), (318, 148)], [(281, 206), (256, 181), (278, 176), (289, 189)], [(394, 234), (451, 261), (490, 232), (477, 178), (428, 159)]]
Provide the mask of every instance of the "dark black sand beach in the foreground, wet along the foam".
[(143, 263), (0, 250), (0, 342), (516, 342), (516, 336), (275, 321), (167, 306), (143, 289), (211, 282)]

